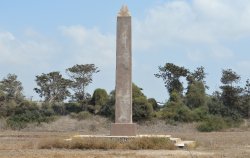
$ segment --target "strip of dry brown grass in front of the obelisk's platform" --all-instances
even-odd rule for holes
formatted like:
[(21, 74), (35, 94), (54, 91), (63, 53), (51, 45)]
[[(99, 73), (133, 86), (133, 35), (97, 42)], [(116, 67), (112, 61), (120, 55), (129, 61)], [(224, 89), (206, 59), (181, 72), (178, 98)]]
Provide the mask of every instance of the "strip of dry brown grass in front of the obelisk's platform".
[(176, 149), (168, 138), (134, 138), (127, 141), (119, 141), (110, 138), (74, 138), (71, 141), (63, 139), (46, 139), (39, 143), (40, 149)]

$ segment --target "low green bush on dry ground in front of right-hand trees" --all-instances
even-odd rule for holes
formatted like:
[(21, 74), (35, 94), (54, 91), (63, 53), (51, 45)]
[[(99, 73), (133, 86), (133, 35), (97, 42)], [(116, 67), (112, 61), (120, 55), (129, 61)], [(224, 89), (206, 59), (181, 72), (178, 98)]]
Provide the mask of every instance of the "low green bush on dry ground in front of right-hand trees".
[(212, 132), (220, 131), (227, 127), (227, 123), (222, 117), (211, 115), (207, 120), (200, 123), (197, 129), (201, 132)]

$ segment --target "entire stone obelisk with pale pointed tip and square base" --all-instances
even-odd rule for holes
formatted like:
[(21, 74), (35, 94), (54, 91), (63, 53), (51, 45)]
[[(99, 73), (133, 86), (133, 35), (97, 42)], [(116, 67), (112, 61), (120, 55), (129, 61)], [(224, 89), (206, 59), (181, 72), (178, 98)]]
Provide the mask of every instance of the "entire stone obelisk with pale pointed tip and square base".
[(116, 87), (115, 123), (112, 136), (135, 136), (136, 124), (132, 120), (132, 41), (131, 16), (123, 6), (117, 16), (116, 32)]

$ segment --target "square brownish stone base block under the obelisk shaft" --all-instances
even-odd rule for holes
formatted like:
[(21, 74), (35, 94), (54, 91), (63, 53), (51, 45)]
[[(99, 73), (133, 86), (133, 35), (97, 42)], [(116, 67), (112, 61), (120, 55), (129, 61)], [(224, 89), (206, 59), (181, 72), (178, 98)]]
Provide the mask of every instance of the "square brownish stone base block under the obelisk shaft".
[(136, 123), (112, 123), (111, 136), (136, 136)]

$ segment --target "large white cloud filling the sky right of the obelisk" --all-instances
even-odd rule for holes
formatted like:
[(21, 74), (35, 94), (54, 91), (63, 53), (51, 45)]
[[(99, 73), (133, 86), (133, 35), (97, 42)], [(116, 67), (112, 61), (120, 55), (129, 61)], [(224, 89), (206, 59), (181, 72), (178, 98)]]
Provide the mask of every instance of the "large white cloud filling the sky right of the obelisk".
[[(195, 53), (197, 59), (202, 55), (230, 59), (234, 53), (222, 43), (250, 36), (250, 1), (165, 2), (151, 8), (145, 19), (135, 21), (134, 34), (137, 51), (182, 47), (189, 57)], [(204, 46), (211, 47), (208, 54), (201, 53)]]

